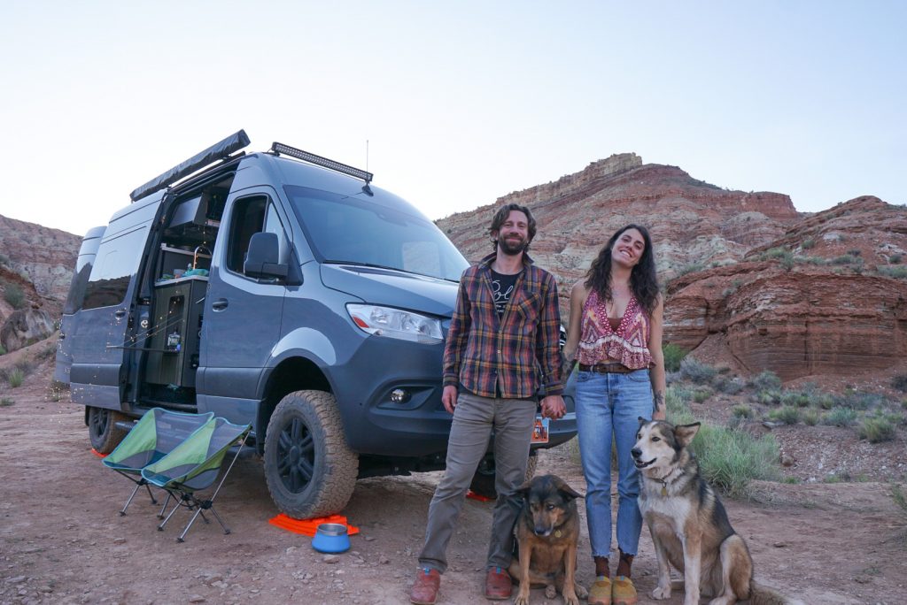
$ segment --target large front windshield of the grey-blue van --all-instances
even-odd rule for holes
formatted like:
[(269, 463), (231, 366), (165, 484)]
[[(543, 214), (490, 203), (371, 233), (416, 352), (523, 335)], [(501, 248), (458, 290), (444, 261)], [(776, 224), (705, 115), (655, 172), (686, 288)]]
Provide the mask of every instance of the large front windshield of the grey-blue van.
[(285, 189), (322, 263), (381, 266), (453, 282), (469, 266), (434, 223), (398, 197), (380, 190), (360, 199), (309, 187)]

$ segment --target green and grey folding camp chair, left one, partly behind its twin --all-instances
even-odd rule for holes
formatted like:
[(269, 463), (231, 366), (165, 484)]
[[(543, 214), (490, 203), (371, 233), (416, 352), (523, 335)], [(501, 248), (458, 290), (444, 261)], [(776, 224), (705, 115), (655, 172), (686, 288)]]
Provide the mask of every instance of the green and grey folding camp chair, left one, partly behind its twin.
[[(132, 495), (129, 496), (129, 500), (120, 511), (121, 515), (126, 514), (126, 509), (132, 504), (132, 498), (139, 492), (142, 485), (151, 496), (151, 504), (158, 504), (154, 495), (151, 494), (148, 481), (141, 476), (141, 469), (170, 453), (186, 437), (205, 424), (213, 422), (212, 418), (214, 418), (214, 412), (183, 414), (163, 408), (151, 408), (145, 412), (145, 415), (132, 427), (126, 437), (123, 437), (120, 445), (102, 459), (104, 466), (112, 468), (135, 484)], [(170, 495), (168, 495), (167, 502), (169, 501)], [(164, 502), (164, 508), (166, 508), (167, 502)], [(164, 508), (161, 508), (159, 517), (163, 516)]]

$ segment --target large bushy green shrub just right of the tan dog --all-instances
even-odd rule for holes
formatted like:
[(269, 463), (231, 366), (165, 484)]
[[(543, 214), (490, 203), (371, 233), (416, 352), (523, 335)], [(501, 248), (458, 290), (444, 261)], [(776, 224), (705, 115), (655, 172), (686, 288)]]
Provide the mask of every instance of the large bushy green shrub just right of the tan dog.
[(746, 496), (753, 479), (774, 480), (780, 475), (773, 435), (756, 438), (743, 430), (703, 425), (692, 448), (703, 476), (731, 497)]

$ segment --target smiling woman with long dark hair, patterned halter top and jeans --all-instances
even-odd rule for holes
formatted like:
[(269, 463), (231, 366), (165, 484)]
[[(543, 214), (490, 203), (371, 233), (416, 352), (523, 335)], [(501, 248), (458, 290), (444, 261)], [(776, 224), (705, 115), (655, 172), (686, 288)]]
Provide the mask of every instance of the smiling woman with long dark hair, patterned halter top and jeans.
[[(665, 418), (665, 363), (661, 353), (662, 300), (652, 241), (645, 227), (628, 225), (612, 235), (586, 279), (571, 291), (570, 330), (564, 355), (579, 361), (576, 417), (586, 517), (596, 580), (590, 605), (632, 605), (630, 566), (639, 546), (639, 475), (629, 454), (639, 417)], [(611, 541), (611, 435), (618, 455), (620, 552), (614, 581)]]

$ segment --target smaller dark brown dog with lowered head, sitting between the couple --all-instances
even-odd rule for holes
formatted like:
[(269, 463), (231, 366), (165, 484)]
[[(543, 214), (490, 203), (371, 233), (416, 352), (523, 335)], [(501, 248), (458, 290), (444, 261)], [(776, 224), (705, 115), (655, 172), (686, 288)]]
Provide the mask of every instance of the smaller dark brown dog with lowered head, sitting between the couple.
[(516, 522), (519, 556), (510, 574), (520, 582), (514, 605), (529, 604), (532, 585), (544, 586), (545, 597), (560, 591), (566, 605), (579, 605), (588, 591), (576, 583), (576, 547), (580, 539), (577, 494), (561, 477), (542, 475), (522, 485), (522, 513)]

